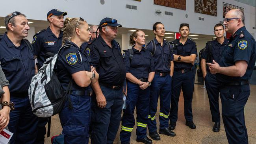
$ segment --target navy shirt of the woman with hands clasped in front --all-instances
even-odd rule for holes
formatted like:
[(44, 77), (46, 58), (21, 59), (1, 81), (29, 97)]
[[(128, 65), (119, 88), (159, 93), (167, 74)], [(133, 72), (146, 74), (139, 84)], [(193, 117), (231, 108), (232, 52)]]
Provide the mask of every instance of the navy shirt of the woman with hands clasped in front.
[(124, 51), (126, 73), (130, 72), (137, 79), (147, 79), (148, 74), (155, 71), (152, 54), (146, 48), (142, 48), (139, 52), (133, 46), (132, 50), (134, 52), (132, 60), (129, 58), (129, 50)]

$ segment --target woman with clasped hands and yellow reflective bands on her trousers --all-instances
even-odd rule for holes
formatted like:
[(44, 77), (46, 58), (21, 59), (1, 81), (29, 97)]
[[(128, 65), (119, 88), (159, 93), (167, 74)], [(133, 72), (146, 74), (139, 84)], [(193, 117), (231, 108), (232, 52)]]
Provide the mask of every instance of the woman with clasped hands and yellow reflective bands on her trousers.
[(152, 144), (147, 137), (147, 121), (149, 112), (149, 94), (151, 81), (154, 78), (155, 68), (152, 54), (143, 47), (145, 33), (136, 30), (130, 35), (131, 49), (124, 51), (126, 66), (127, 101), (123, 110), (122, 130), (120, 139), (122, 144), (130, 143), (131, 132), (134, 127), (134, 109), (137, 109), (137, 142)]

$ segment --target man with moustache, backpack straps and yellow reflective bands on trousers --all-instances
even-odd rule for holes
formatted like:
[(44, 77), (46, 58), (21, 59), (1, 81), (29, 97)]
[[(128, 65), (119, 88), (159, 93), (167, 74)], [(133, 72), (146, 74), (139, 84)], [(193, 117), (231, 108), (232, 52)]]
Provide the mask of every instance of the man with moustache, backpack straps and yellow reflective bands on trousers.
[(159, 133), (174, 137), (176, 134), (168, 128), (171, 102), (171, 83), (173, 76), (173, 47), (164, 40), (165, 27), (161, 22), (153, 25), (155, 38), (147, 44), (155, 65), (155, 76), (150, 85), (150, 110), (148, 114), (148, 131), (153, 140), (160, 140), (156, 126), (156, 111), (160, 97)]

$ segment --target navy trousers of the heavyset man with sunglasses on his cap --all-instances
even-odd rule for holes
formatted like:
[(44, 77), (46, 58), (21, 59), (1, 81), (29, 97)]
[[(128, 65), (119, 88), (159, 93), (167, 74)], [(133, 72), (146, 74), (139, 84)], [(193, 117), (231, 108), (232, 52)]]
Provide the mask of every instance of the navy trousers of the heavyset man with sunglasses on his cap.
[(103, 109), (97, 106), (96, 96), (92, 97), (92, 144), (112, 144), (117, 135), (121, 120), (123, 97), (122, 88), (111, 89), (100, 85), (107, 105)]

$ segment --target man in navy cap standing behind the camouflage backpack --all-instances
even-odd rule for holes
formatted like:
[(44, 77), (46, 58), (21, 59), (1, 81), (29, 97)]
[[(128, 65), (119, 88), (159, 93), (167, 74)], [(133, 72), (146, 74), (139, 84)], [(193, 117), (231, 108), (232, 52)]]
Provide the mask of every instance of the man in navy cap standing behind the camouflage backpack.
[[(37, 32), (32, 41), (35, 58), (37, 58), (37, 70), (39, 70), (45, 60), (58, 53), (59, 48), (62, 45), (63, 31), (61, 29), (64, 26), (64, 16), (67, 12), (59, 11), (58, 9), (52, 9), (47, 13), (47, 20), (49, 27), (45, 30)], [(45, 134), (48, 118), (39, 118), (38, 122), (38, 135), (37, 144), (45, 143)]]

